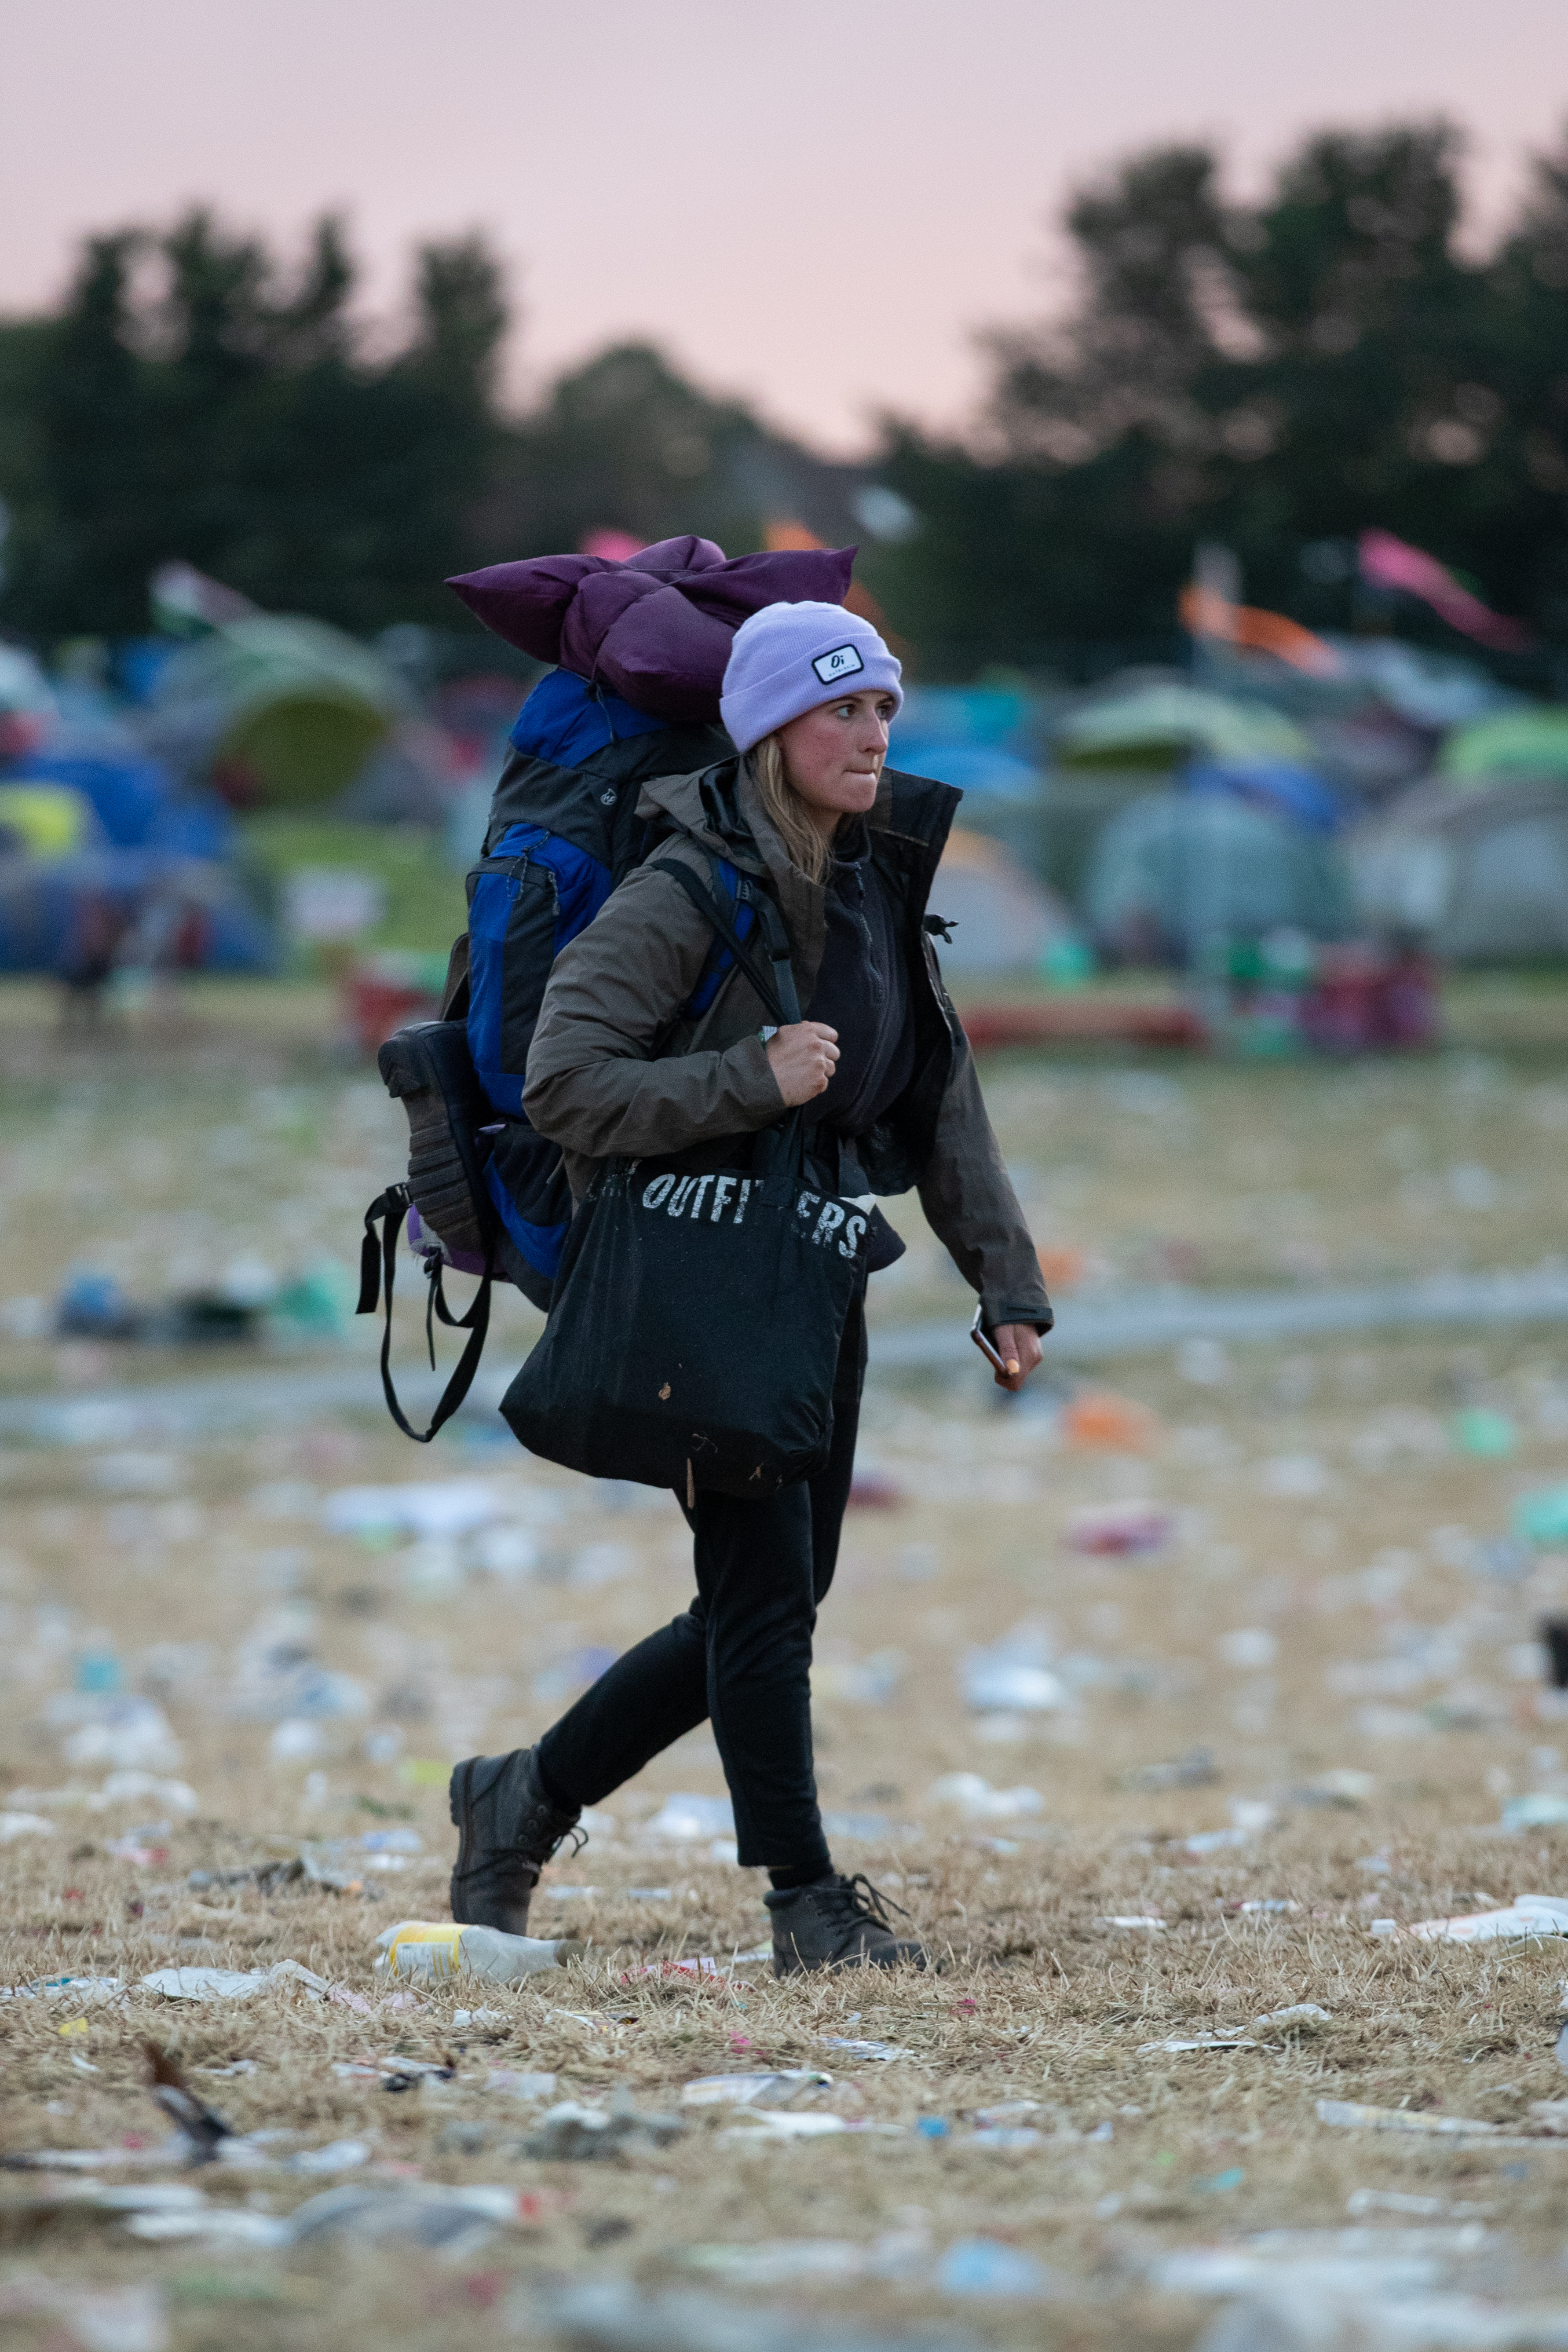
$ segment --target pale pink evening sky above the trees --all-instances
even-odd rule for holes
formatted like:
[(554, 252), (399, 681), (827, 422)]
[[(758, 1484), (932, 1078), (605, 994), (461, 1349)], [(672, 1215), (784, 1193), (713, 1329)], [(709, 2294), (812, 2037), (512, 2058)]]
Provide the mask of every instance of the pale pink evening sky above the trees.
[(1065, 191), (1215, 139), (1258, 183), (1302, 129), (1472, 132), (1479, 216), (1568, 118), (1563, 0), (73, 0), (14, 7), (0, 308), (75, 238), (205, 198), (296, 245), (350, 219), (393, 313), (409, 245), (487, 228), (520, 397), (611, 336), (832, 449), (957, 421), (973, 332), (1063, 294)]

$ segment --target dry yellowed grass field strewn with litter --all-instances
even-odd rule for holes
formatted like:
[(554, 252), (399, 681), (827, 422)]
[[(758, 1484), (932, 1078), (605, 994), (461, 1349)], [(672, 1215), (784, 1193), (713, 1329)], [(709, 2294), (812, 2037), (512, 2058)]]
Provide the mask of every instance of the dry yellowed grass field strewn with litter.
[[(1561, 1011), (1488, 983), (1420, 1063), (1006, 1056), (987, 1091), (1084, 1296), (1528, 1268), (1563, 1254)], [(447, 1915), (449, 1762), (536, 1736), (684, 1606), (679, 1512), (529, 1461), (491, 1414), (411, 1449), (367, 1327), (52, 1338), (28, 1301), (71, 1265), (146, 1303), (235, 1261), (348, 1265), (402, 1115), (303, 990), (197, 993), (89, 1044), (33, 990), (0, 1014), (0, 1414), (94, 1399), (68, 1442), (0, 1439), (7, 2343), (1568, 2343), (1568, 2138), (1542, 2112), (1568, 2098), (1568, 1945), (1403, 1933), (1568, 1896), (1568, 1832), (1502, 1828), (1568, 1792), (1535, 1642), (1568, 1611), (1568, 1538), (1509, 1534), (1568, 1479), (1568, 1331), (1190, 1345), (1048, 1369), (1020, 1406), (978, 1364), (875, 1376), (818, 1632), (820, 1788), (839, 1865), (933, 1966), (776, 1985), (696, 1733), (545, 1875), (536, 1933), (581, 1959), (393, 1985), (376, 1936)], [(966, 1319), (919, 1211), (896, 1216), (912, 1249), (875, 1324)], [(512, 1301), (496, 1369), (536, 1329)], [(414, 1367), (411, 1298), (397, 1345)], [(99, 1414), (247, 1367), (254, 1428)], [(360, 1402), (289, 1416), (289, 1381), (334, 1367)], [(444, 1529), (440, 1501), (423, 1531), (407, 1498), (341, 1501), (433, 1482)], [(1157, 1548), (1084, 1548), (1138, 1503)], [(976, 1705), (1009, 1696), (978, 1689), (987, 1663), (1030, 1703)], [(141, 1983), (277, 1962), (329, 1990)], [(24, 1994), (61, 1976), (120, 1990)], [(148, 2042), (270, 2138), (186, 2169)], [(682, 2103), (792, 2067), (830, 2079)], [(545, 2122), (559, 2103), (611, 2122)], [(132, 2211), (158, 2185), (183, 2204)], [(433, 2185), (503, 2192), (489, 2230)], [(327, 2192), (355, 2213), (287, 2239)]]

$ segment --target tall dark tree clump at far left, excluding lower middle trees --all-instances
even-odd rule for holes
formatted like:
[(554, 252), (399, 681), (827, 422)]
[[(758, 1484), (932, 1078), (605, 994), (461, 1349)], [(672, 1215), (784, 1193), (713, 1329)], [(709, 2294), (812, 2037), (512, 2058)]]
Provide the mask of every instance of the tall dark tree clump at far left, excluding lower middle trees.
[(423, 247), (386, 360), (353, 287), (331, 219), (292, 285), (205, 212), (92, 238), (59, 315), (0, 329), (0, 616), (143, 633), (169, 557), (346, 628), (428, 614), (498, 435), (501, 280), (477, 240)]

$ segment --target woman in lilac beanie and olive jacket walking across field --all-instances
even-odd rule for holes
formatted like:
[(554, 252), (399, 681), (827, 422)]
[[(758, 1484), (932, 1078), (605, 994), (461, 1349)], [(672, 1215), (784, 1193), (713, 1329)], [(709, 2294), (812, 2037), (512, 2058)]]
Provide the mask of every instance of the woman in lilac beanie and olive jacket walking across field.
[[(628, 875), (562, 950), (522, 1101), (562, 1145), (578, 1200), (609, 1157), (741, 1169), (752, 1138), (802, 1108), (813, 1181), (865, 1197), (865, 1272), (903, 1254), (870, 1195), (919, 1188), (978, 1291), (997, 1381), (1016, 1390), (1039, 1364), (1051, 1305), (926, 931), (959, 795), (884, 767), (898, 680), (877, 630), (839, 604), (766, 604), (736, 630), (722, 715), (738, 757), (644, 788), (639, 816), (663, 830), (658, 861)], [(717, 990), (698, 985), (712, 929), (661, 870), (672, 858), (705, 891), (715, 858), (766, 889), (802, 1021), (769, 1028), (729, 957)], [(766, 1501), (689, 1491), (691, 1609), (618, 1658), (534, 1748), (456, 1766), (454, 1919), (527, 1933), (538, 1872), (583, 1806), (708, 1719), (738, 1858), (771, 1879), (773, 1973), (924, 1964), (875, 1889), (832, 1867), (811, 1766), (811, 1632), (849, 1501), (863, 1291), (865, 1277), (844, 1324), (823, 1468)], [(769, 1345), (766, 1329), (755, 1345)]]

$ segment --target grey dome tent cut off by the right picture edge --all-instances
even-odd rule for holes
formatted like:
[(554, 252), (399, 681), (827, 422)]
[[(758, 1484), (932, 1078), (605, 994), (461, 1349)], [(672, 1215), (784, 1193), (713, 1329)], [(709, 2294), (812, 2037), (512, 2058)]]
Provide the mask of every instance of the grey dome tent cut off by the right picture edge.
[(1568, 955), (1568, 790), (1432, 783), (1347, 842), (1356, 901), (1453, 962)]

